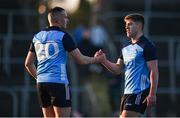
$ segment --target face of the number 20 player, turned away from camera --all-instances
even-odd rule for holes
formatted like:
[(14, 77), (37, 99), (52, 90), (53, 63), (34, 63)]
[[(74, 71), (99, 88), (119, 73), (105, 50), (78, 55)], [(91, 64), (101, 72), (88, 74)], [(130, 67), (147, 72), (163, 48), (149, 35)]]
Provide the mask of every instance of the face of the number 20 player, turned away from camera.
[(69, 21), (69, 19), (68, 19), (67, 13), (65, 11), (62, 12), (61, 16), (60, 16), (61, 27), (66, 29), (68, 21)]

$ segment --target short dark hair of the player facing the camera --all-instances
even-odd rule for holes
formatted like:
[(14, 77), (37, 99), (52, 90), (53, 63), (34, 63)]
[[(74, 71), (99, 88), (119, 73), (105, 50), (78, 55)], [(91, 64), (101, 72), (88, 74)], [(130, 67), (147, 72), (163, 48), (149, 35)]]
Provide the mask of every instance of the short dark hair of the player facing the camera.
[(131, 19), (135, 22), (140, 22), (144, 26), (144, 16), (142, 14), (139, 14), (139, 13), (129, 14), (129, 15), (125, 16), (124, 21), (129, 20), (129, 19)]

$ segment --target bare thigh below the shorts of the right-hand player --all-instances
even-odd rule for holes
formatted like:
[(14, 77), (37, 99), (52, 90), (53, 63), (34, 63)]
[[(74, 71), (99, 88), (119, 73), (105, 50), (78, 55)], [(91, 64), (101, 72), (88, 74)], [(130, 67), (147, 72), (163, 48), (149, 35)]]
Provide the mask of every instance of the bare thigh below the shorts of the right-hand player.
[(125, 118), (125, 117), (140, 117), (141, 114), (135, 111), (127, 111), (127, 110), (123, 110), (123, 112), (121, 113), (120, 117), (121, 118)]

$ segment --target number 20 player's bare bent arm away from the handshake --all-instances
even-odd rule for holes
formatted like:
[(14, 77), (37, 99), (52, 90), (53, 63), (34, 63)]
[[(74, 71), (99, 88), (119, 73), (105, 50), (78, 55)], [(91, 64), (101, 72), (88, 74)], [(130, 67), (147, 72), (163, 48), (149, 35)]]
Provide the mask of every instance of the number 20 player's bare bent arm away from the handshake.
[(26, 67), (27, 71), (29, 72), (29, 74), (36, 79), (37, 74), (36, 74), (36, 67), (34, 65), (35, 59), (36, 59), (35, 54), (33, 52), (29, 51), (28, 55), (26, 57), (26, 60), (25, 60), (25, 67)]

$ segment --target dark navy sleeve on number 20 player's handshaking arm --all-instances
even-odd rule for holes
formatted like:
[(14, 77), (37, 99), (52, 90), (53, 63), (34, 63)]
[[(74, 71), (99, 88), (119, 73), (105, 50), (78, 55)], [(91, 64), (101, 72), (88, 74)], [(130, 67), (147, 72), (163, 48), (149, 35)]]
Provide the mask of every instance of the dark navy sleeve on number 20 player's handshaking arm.
[(71, 52), (77, 48), (74, 40), (72, 39), (72, 37), (68, 33), (65, 33), (65, 35), (62, 39), (62, 42), (63, 42), (65, 50), (68, 52)]

